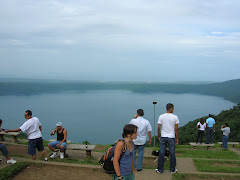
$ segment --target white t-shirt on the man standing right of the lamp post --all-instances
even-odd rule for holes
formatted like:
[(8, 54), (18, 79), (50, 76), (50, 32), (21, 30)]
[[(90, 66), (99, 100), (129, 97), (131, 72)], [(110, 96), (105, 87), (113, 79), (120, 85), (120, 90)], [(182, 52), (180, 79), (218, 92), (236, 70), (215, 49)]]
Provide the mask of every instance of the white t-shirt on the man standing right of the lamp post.
[(158, 124), (161, 124), (161, 137), (175, 138), (175, 124), (179, 124), (178, 117), (172, 113), (159, 116)]

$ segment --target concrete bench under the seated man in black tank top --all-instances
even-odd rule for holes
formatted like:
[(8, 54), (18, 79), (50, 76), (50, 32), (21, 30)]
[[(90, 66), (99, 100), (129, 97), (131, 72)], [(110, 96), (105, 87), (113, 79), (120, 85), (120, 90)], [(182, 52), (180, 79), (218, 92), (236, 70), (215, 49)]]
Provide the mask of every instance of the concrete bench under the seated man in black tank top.
[[(57, 141), (56, 139), (50, 139), (49, 142)], [(96, 145), (83, 145), (83, 144), (70, 144), (72, 141), (67, 140), (67, 147), (66, 149), (69, 150), (85, 150), (87, 157), (91, 157), (91, 151), (96, 148)], [(66, 154), (66, 150), (64, 151), (64, 157), (68, 157)]]

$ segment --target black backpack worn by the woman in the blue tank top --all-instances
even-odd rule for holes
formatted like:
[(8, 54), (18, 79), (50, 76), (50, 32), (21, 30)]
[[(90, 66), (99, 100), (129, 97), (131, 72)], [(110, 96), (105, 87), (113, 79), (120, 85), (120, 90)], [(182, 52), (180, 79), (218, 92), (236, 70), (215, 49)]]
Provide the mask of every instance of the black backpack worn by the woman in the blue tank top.
[[(126, 142), (123, 139), (118, 140), (118, 142), (119, 141), (123, 141), (123, 143), (124, 143), (122, 153), (120, 155), (120, 159), (121, 159), (121, 157), (126, 152)], [(102, 158), (99, 161), (103, 170), (108, 174), (115, 173), (114, 166), (113, 166), (113, 157), (114, 157), (114, 150), (116, 148), (117, 143), (115, 143), (112, 147), (108, 148), (108, 150), (105, 152), (105, 154), (102, 156)], [(119, 159), (119, 161), (120, 161), (120, 159)]]

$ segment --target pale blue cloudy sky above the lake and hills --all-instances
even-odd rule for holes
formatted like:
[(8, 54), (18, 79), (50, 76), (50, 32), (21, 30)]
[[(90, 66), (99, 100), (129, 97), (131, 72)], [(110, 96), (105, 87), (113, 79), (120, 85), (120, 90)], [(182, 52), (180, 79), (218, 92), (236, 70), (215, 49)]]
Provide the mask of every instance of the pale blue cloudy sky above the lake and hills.
[(0, 0), (0, 77), (240, 78), (239, 0)]

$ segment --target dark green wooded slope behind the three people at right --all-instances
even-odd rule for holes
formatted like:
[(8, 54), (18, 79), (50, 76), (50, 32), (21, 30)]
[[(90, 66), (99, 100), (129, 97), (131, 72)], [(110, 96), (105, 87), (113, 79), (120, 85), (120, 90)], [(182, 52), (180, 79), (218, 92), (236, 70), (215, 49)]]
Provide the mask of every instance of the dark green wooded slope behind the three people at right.
[[(204, 120), (208, 117), (203, 117)], [(214, 142), (222, 141), (222, 131), (220, 131), (221, 125), (225, 122), (228, 123), (231, 133), (229, 141), (240, 142), (240, 105), (234, 106), (230, 110), (222, 111), (220, 114), (213, 117), (216, 120), (216, 132), (214, 133)], [(196, 124), (199, 119), (190, 121), (188, 124), (179, 128), (179, 144), (188, 144), (189, 142), (195, 142), (197, 136)], [(205, 132), (206, 135), (206, 132)], [(206, 142), (206, 137), (204, 141)]]

